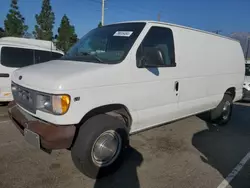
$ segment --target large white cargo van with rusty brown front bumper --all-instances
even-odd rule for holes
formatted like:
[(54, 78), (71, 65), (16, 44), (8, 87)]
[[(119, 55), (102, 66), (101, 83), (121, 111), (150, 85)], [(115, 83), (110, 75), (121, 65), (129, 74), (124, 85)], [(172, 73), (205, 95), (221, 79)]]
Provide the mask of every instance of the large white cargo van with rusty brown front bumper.
[(225, 125), (242, 98), (240, 43), (154, 21), (96, 28), (60, 60), (16, 70), (9, 116), (25, 139), (71, 150), (91, 178), (121, 164), (129, 134), (201, 112)]

